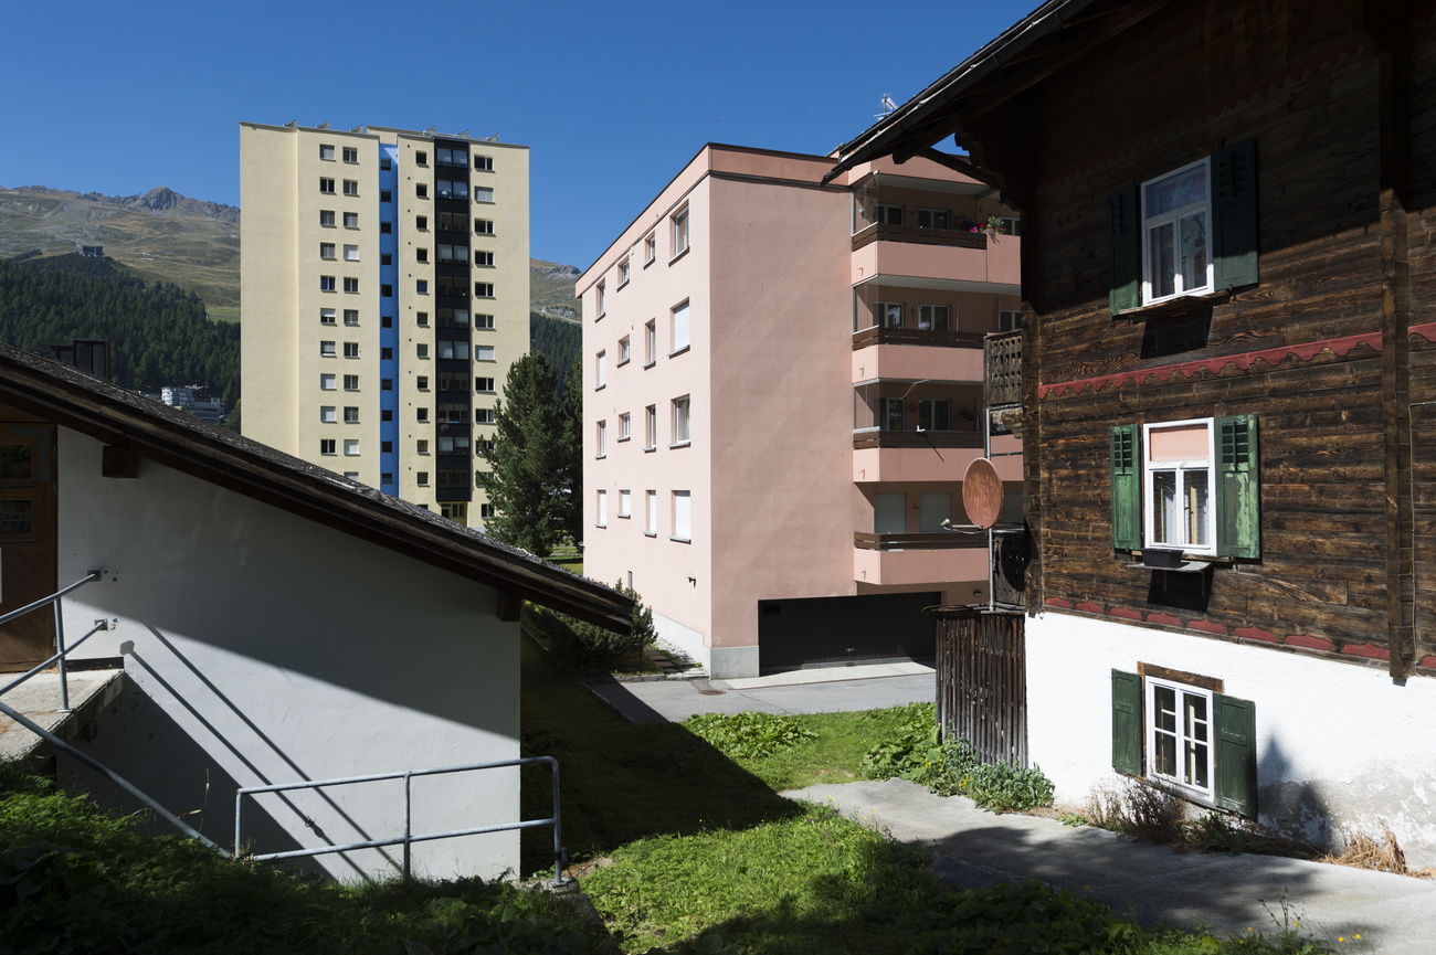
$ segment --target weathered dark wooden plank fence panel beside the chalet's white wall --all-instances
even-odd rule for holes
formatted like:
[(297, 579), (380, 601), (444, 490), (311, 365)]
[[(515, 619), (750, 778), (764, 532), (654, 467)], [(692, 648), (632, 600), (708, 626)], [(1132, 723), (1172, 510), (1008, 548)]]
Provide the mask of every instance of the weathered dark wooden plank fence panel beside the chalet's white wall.
[(1027, 659), (1021, 613), (938, 618), (938, 727), (985, 763), (1027, 765)]

